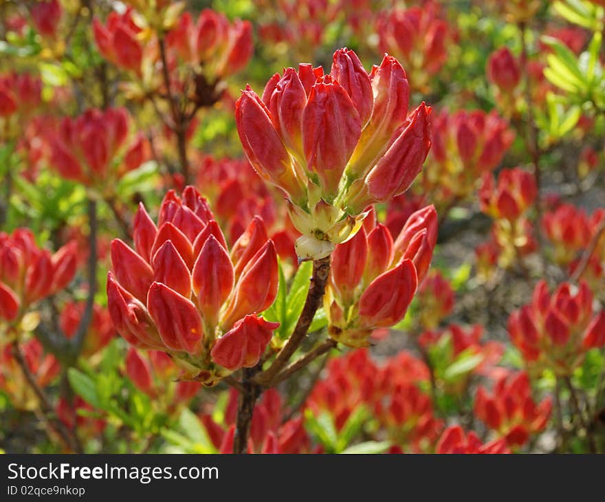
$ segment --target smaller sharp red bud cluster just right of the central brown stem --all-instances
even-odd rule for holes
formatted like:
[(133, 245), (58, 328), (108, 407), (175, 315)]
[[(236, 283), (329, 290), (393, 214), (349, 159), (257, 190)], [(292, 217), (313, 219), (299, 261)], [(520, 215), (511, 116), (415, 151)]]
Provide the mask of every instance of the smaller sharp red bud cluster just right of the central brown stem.
[(367, 234), (364, 226), (338, 244), (324, 296), (330, 336), (362, 347), (374, 329), (403, 319), (436, 242), (437, 212), (427, 206), (410, 216), (394, 242), (388, 229), (378, 224)]

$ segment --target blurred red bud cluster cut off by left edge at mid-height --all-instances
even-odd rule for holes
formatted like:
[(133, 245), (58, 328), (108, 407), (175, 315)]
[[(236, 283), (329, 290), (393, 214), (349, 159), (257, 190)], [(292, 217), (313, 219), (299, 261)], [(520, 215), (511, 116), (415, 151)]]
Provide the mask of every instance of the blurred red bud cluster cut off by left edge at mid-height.
[(51, 254), (26, 228), (0, 232), (0, 320), (18, 319), (32, 303), (63, 290), (75, 273), (74, 241)]

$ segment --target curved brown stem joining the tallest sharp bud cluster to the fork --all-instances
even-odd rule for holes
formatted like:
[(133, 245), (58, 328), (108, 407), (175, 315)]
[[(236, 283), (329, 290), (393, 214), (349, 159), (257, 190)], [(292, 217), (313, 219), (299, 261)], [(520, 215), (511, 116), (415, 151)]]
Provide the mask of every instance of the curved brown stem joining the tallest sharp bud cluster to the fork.
[(329, 256), (313, 261), (313, 275), (309, 283), (309, 292), (307, 292), (305, 306), (303, 307), (303, 312), (300, 313), (296, 327), (294, 327), (292, 335), (288, 338), (281, 351), (279, 351), (271, 366), (263, 371), (263, 373), (256, 375), (254, 382), (264, 387), (272, 386), (278, 373), (282, 371), (289, 359), (294, 355), (294, 352), (296, 352), (296, 349), (300, 347), (300, 344), (307, 335), (307, 331), (309, 331), (309, 326), (313, 322), (315, 313), (321, 305), (329, 274)]

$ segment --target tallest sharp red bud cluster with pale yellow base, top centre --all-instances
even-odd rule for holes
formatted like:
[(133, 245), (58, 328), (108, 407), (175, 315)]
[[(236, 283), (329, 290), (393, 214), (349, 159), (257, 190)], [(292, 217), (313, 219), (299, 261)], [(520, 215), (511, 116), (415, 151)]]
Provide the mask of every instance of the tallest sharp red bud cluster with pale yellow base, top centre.
[(360, 227), (364, 209), (403, 193), (430, 148), (430, 107), (408, 113), (408, 81), (391, 56), (368, 74), (355, 52), (334, 53), (330, 74), (300, 65), (275, 74), (260, 98), (236, 103), (243, 149), (287, 194), (302, 258), (327, 256)]

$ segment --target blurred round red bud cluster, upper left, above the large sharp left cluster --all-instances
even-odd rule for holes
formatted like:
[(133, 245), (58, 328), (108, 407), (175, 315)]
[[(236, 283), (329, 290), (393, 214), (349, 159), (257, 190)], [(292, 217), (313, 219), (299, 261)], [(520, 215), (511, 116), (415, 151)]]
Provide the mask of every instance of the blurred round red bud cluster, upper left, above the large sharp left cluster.
[(78, 118), (66, 117), (52, 140), (50, 163), (67, 179), (87, 186), (111, 186), (145, 160), (146, 143), (141, 135), (123, 148), (128, 129), (129, 115), (124, 108), (89, 109)]

